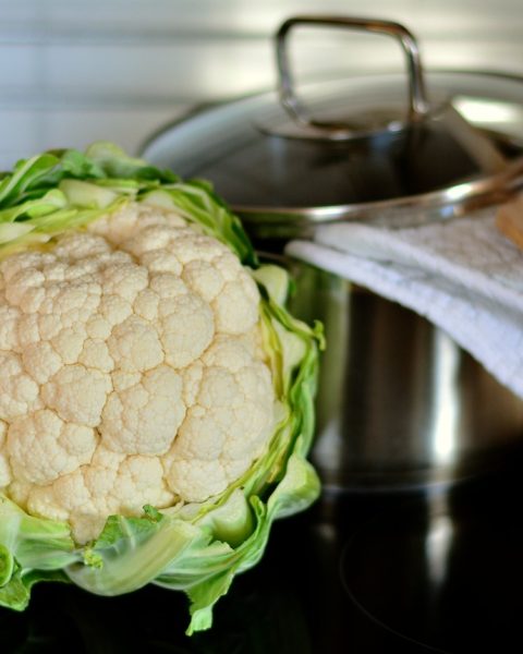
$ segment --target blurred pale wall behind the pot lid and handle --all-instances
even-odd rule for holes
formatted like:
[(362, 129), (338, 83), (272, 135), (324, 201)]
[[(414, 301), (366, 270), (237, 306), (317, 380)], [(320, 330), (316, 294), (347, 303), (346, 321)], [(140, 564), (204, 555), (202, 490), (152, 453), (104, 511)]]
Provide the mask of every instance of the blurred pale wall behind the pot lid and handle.
[[(271, 35), (297, 13), (404, 22), (427, 68), (523, 74), (522, 0), (0, 0), (0, 165), (96, 138), (136, 152), (194, 105), (273, 87)], [(382, 37), (292, 44), (301, 78), (401, 65)]]

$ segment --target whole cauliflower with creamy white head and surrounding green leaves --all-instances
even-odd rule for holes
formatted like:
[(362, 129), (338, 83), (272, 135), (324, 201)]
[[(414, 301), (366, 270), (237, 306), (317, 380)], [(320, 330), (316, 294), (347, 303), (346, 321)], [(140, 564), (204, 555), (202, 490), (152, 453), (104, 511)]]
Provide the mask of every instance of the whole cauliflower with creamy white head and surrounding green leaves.
[(208, 185), (112, 144), (0, 175), (0, 604), (185, 590), (208, 628), (306, 461), (320, 326)]

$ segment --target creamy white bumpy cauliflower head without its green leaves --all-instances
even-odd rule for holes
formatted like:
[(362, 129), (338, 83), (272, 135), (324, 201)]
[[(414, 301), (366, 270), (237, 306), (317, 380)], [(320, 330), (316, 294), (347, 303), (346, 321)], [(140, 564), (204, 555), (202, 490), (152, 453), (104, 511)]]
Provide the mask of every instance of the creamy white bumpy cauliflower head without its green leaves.
[(0, 486), (77, 542), (203, 501), (273, 429), (259, 292), (174, 211), (125, 204), (0, 262)]

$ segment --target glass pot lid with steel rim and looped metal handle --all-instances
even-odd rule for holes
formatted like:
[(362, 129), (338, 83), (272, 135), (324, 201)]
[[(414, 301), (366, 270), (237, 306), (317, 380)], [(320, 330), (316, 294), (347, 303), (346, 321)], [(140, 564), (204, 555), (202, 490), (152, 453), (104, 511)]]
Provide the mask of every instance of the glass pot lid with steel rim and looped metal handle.
[[(398, 39), (408, 74), (304, 87), (288, 62), (296, 26), (332, 25)], [(523, 172), (523, 81), (433, 71), (414, 37), (387, 21), (296, 16), (276, 37), (279, 90), (196, 112), (149, 140), (144, 156), (206, 178), (254, 235), (292, 237), (318, 222), (417, 225), (504, 199)]]

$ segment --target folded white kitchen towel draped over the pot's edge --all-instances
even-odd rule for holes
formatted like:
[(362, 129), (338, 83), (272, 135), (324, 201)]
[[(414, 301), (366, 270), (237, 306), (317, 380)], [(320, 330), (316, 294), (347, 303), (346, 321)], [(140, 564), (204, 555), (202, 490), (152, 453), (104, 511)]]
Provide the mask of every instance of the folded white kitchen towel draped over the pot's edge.
[(523, 398), (523, 252), (494, 209), (396, 230), (327, 225), (287, 253), (426, 316)]

